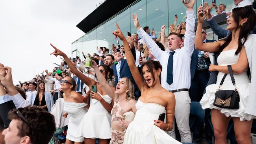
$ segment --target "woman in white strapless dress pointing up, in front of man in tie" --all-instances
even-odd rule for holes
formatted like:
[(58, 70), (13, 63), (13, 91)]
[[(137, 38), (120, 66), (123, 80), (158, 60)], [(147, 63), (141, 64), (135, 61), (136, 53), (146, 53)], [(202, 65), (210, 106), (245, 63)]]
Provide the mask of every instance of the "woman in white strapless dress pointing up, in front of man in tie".
[[(139, 24), (137, 15), (133, 17), (134, 24)], [(173, 93), (161, 87), (162, 66), (158, 61), (144, 63), (141, 66), (143, 74), (141, 78), (128, 42), (118, 25), (113, 34), (124, 44), (129, 68), (141, 91), (141, 97), (136, 103), (137, 112), (134, 121), (127, 128), (124, 144), (181, 144), (165, 132), (173, 129), (175, 97)], [(162, 113), (166, 113), (166, 123), (158, 120)]]

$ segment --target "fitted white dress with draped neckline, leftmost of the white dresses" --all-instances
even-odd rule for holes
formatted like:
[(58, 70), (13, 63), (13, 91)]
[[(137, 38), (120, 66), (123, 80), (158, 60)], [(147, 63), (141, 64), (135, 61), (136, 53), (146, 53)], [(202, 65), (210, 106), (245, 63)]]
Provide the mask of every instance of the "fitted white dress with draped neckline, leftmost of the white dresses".
[(73, 142), (83, 142), (84, 138), (80, 136), (77, 129), (83, 116), (86, 114), (86, 103), (75, 103), (64, 101), (64, 111), (70, 115), (67, 139)]

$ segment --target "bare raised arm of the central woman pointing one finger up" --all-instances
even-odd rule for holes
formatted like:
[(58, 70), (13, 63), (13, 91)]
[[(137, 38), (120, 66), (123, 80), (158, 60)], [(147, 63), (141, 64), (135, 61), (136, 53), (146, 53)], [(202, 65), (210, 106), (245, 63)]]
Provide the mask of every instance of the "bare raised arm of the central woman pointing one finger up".
[(113, 34), (115, 35), (116, 38), (119, 37), (119, 39), (121, 39), (122, 43), (124, 44), (124, 50), (125, 50), (128, 66), (130, 68), (130, 71), (132, 73), (135, 83), (137, 84), (139, 90), (142, 91), (144, 82), (140, 77), (140, 73), (139, 73), (137, 66), (135, 65), (134, 56), (132, 55), (131, 49), (128, 45), (128, 42), (127, 42), (126, 38), (124, 37), (124, 35), (122, 34), (119, 26), (117, 24), (116, 24), (116, 26), (117, 26), (117, 30), (115, 30), (113, 32)]

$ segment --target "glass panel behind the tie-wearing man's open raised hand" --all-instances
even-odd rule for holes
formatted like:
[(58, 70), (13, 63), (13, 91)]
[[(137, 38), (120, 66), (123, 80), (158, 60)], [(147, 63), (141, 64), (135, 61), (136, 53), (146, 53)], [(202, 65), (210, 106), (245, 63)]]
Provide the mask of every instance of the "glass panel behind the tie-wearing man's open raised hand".
[(132, 14), (135, 15), (135, 13), (137, 13), (139, 17), (139, 24), (142, 27), (147, 26), (147, 8), (146, 8), (147, 4), (146, 3), (147, 3), (147, 0), (141, 0), (130, 7), (130, 10), (131, 10), (130, 25), (131, 25), (132, 34), (137, 33), (137, 29), (134, 26)]

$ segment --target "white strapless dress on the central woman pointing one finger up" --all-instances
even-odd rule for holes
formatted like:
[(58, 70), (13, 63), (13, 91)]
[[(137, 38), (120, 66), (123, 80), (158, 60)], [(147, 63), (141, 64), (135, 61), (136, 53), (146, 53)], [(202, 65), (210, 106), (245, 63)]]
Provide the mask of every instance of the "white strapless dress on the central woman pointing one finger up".
[(136, 103), (136, 115), (124, 135), (124, 144), (181, 144), (154, 125), (165, 107), (157, 103)]

